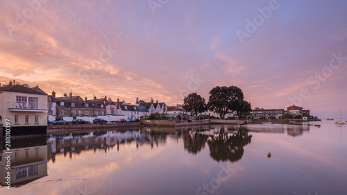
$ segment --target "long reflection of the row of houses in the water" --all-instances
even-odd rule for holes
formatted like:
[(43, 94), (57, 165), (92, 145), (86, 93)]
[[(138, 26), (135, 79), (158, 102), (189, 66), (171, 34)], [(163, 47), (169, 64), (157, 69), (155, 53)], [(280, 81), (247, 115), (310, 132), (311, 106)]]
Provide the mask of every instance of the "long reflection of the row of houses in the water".
[(105, 153), (113, 149), (117, 145), (119, 151), (120, 144), (130, 144), (135, 142), (137, 149), (141, 144), (151, 144), (152, 148), (154, 143), (165, 142), (160, 133), (149, 131), (142, 133), (141, 130), (127, 130), (127, 131), (108, 131), (107, 133), (87, 133), (85, 135), (66, 135), (60, 137), (49, 137), (47, 145), (49, 146), (49, 160), (52, 159), (56, 162), (57, 154), (69, 153), (69, 158), (72, 158), (73, 153), (81, 153), (82, 151), (101, 149)]

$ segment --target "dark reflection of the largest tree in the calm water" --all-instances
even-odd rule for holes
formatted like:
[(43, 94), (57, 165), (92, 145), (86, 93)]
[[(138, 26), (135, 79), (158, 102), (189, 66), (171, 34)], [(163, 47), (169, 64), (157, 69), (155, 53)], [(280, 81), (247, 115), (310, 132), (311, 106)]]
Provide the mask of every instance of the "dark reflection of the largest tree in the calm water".
[(210, 155), (214, 160), (237, 162), (244, 155), (244, 146), (251, 143), (252, 135), (246, 128), (240, 128), (236, 134), (228, 135), (223, 128), (219, 134), (208, 139)]

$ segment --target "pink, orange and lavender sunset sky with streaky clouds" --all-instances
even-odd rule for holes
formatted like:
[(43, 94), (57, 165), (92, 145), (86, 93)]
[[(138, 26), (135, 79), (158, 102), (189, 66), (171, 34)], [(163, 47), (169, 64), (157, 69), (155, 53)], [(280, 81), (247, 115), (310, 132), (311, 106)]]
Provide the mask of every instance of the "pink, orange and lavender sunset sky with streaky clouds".
[(347, 1), (1, 0), (0, 10), (2, 84), (168, 105), (234, 85), (252, 108), (347, 116)]

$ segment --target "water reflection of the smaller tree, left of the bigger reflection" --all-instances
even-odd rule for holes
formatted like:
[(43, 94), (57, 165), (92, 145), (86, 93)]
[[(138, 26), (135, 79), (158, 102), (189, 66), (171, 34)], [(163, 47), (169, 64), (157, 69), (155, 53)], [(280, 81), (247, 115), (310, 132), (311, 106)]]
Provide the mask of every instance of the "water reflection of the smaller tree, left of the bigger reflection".
[(208, 135), (203, 135), (201, 133), (194, 133), (189, 135), (189, 131), (183, 132), (183, 142), (185, 145), (185, 150), (188, 153), (197, 154), (203, 148), (205, 148), (205, 143), (208, 140)]

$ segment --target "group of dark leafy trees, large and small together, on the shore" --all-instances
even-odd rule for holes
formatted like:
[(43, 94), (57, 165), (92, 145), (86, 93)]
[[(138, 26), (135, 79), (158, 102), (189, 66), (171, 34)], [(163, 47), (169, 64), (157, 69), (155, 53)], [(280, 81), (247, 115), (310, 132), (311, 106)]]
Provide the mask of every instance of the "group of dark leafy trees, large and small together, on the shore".
[(205, 103), (205, 99), (196, 92), (188, 94), (185, 96), (183, 108), (197, 115), (206, 110), (215, 111), (221, 119), (224, 119), (228, 112), (236, 111), (241, 117), (252, 110), (251, 103), (244, 100), (244, 93), (239, 87), (217, 86), (210, 90), (209, 95), (208, 103)]

